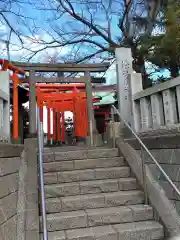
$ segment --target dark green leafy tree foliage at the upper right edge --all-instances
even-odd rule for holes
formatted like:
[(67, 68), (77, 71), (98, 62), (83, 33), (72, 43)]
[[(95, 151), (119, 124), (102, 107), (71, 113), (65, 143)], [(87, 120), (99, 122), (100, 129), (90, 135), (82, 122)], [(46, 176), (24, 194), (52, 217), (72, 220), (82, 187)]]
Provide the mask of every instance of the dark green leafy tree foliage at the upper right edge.
[(164, 6), (161, 14), (161, 31), (155, 35), (139, 38), (139, 52), (144, 59), (158, 69), (168, 69), (172, 78), (180, 70), (180, 7), (177, 3)]

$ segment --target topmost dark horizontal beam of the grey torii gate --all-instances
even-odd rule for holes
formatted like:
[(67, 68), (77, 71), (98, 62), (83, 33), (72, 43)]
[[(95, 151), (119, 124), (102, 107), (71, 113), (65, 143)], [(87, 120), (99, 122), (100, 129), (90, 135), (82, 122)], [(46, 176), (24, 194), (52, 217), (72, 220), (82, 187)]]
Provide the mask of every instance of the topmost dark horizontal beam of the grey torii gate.
[(73, 63), (23, 63), (12, 62), (24, 71), (34, 70), (35, 72), (105, 72), (109, 63), (97, 64), (73, 64)]

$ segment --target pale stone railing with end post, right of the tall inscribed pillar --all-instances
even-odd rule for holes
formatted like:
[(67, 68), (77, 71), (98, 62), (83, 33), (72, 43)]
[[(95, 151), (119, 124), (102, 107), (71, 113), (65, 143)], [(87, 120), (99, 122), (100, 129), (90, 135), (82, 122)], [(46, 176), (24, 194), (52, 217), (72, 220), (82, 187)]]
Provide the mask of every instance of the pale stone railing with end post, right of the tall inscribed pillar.
[(141, 76), (133, 73), (130, 84), (132, 123), (137, 132), (180, 128), (180, 77), (142, 90)]

